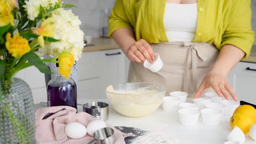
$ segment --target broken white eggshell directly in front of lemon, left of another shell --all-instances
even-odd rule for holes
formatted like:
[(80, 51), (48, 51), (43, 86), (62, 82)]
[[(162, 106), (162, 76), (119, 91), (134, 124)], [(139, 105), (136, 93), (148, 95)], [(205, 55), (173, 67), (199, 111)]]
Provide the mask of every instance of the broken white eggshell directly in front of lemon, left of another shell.
[(245, 135), (239, 127), (234, 126), (233, 130), (227, 136), (227, 140), (239, 141), (240, 143), (243, 143), (245, 141)]

